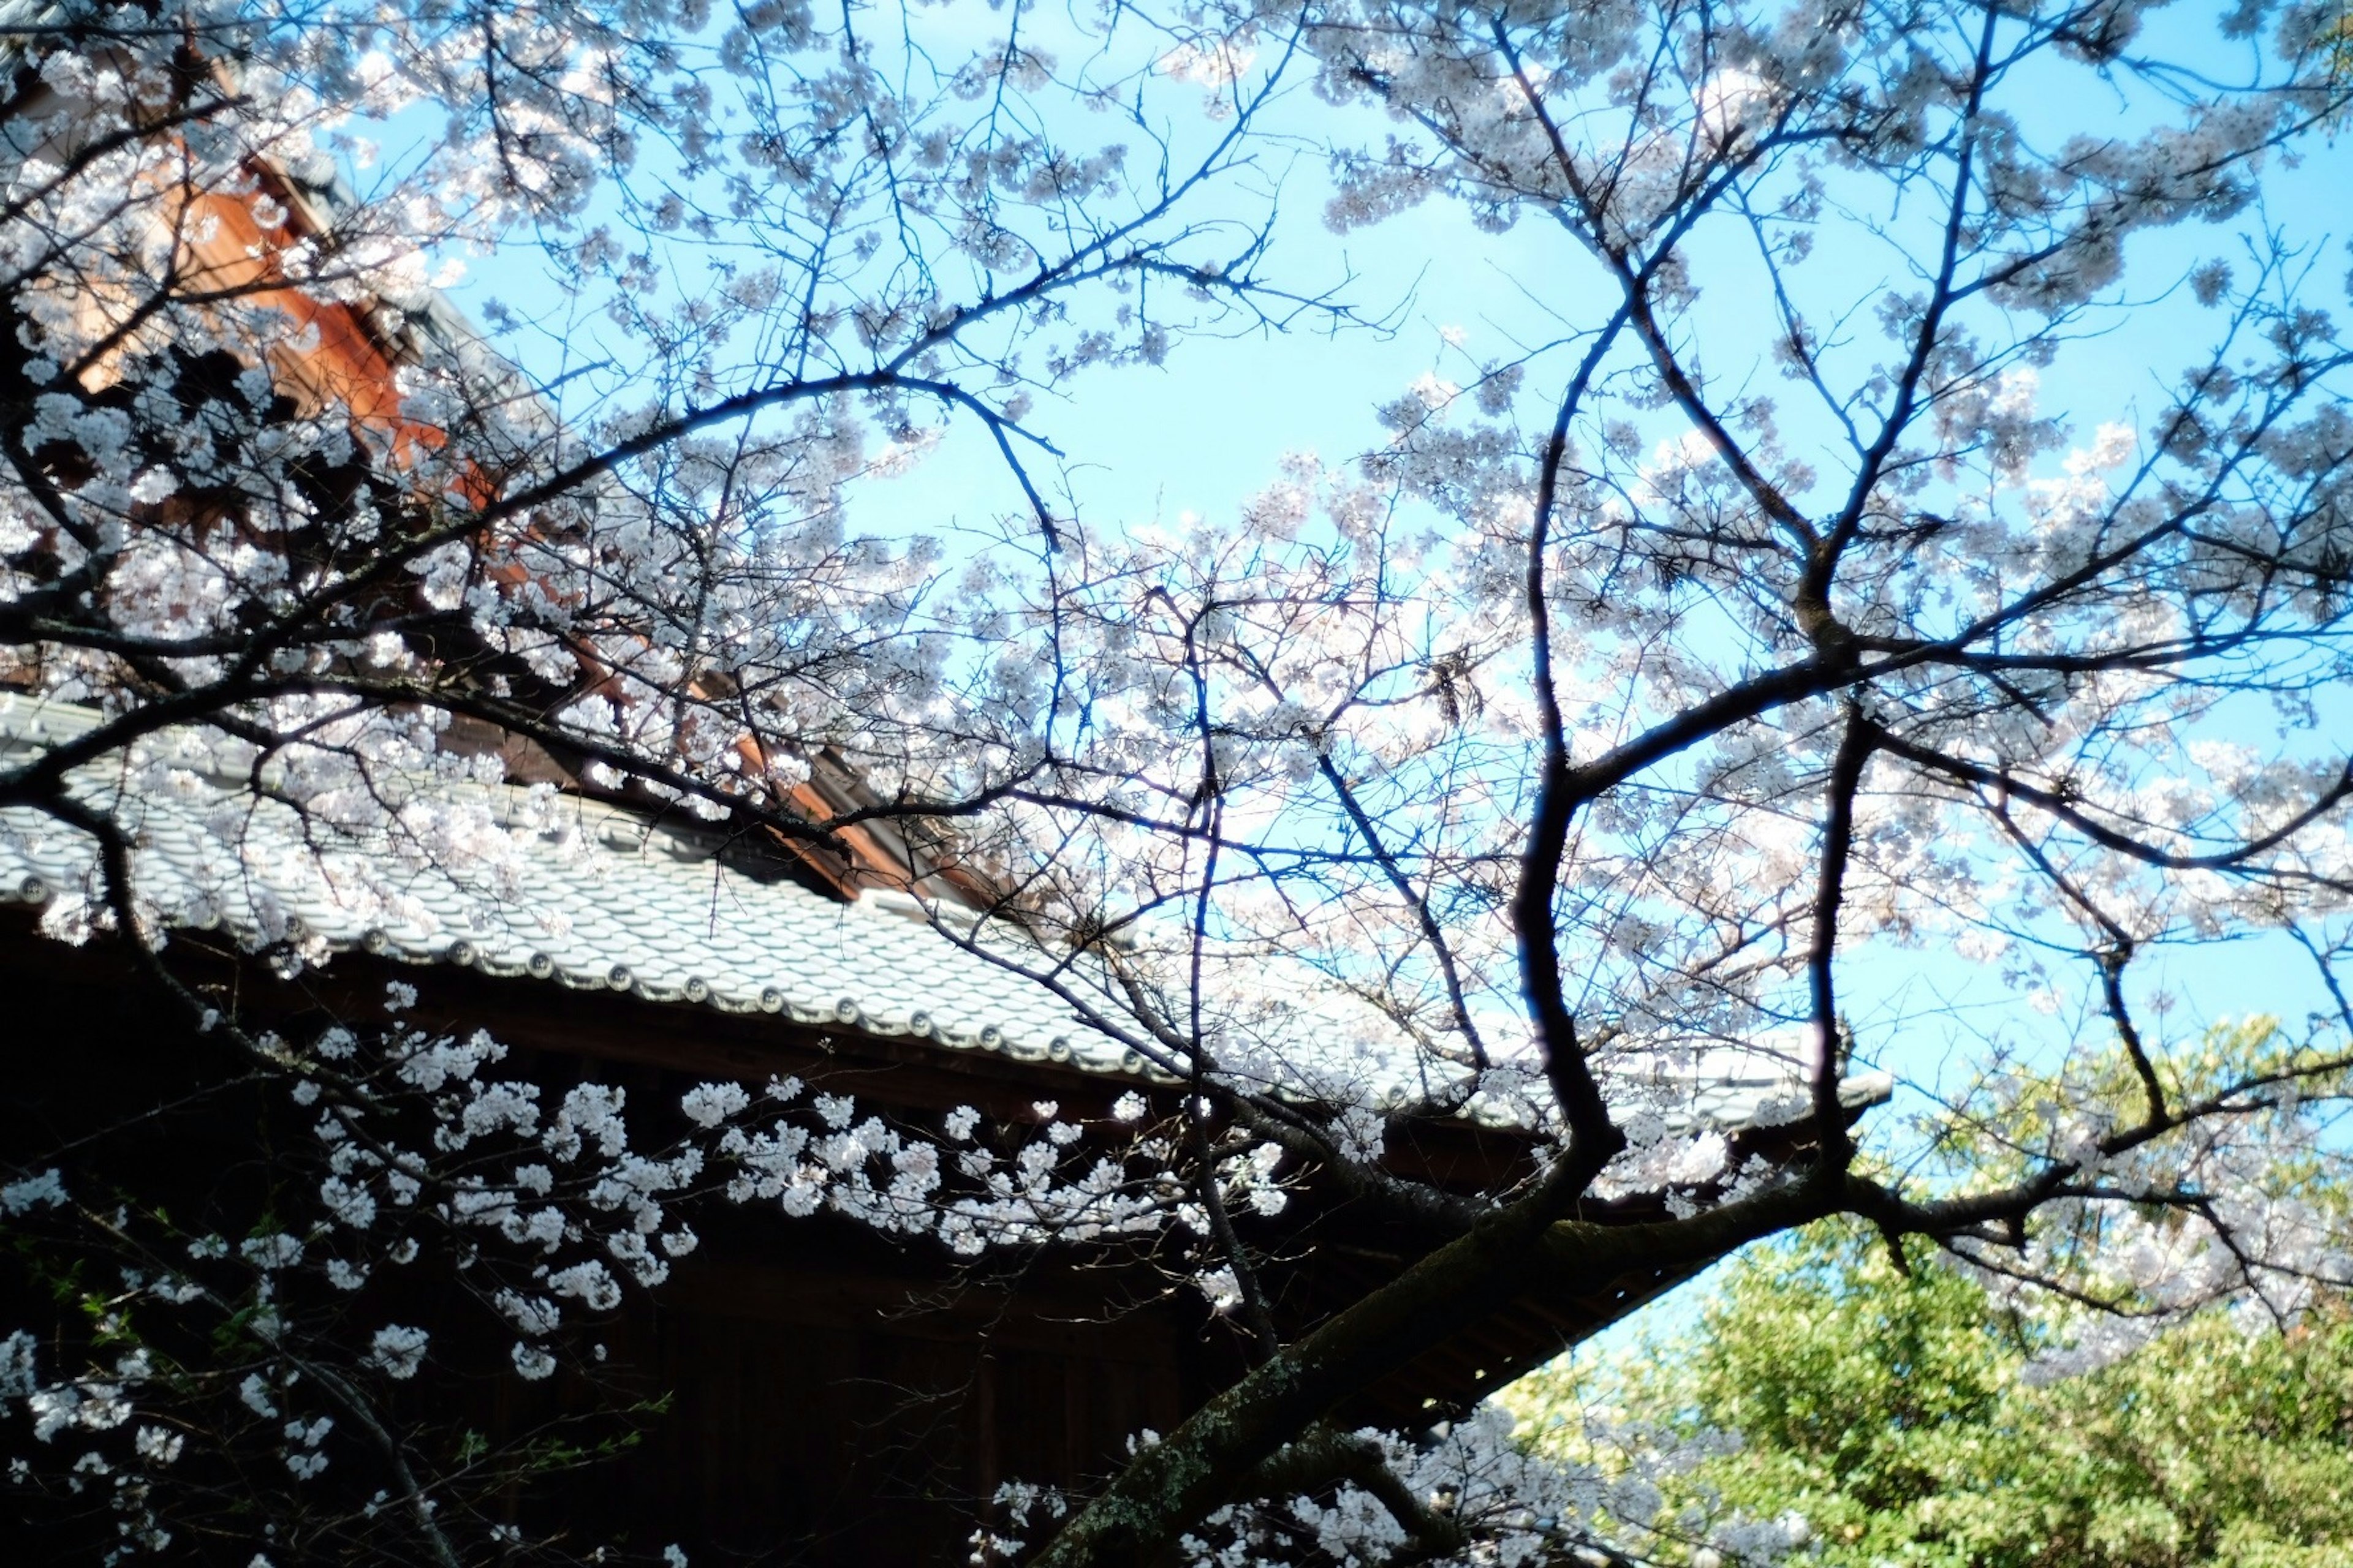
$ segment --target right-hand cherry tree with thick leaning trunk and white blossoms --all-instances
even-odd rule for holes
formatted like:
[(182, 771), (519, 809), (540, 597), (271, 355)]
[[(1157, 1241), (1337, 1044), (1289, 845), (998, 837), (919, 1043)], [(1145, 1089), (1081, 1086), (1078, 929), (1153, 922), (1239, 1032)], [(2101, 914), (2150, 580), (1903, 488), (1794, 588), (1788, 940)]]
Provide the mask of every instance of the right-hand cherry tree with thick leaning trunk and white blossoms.
[[(2169, 1048), (2134, 1006), (2167, 943), (2282, 931), (2320, 971), (2344, 943), (2353, 773), (2318, 722), (2344, 677), (2344, 357), (2318, 254), (2259, 205), (2337, 113), (2301, 63), (2322, 21), (2240, 12), (2188, 33), (2193, 66), (2108, 5), (1320, 19), (1320, 92), (1388, 122), (1341, 146), (1327, 216), (1544, 226), (1522, 282), (1558, 329), (1414, 388), (1362, 473), (1089, 541), (1038, 614), (1094, 642), (1064, 630), (1035, 682), (1080, 797), (1040, 813), (1082, 811), (1087, 853), (1049, 839), (1026, 877), (1078, 889), (1047, 898), (1078, 922), (1122, 889), (1139, 950), (1165, 943), (1136, 1048), (1240, 1079), (1254, 1131), (1449, 1239), (1287, 1340), (1233, 1265), (1261, 1366), (1040, 1561), (1151, 1561), (1289, 1495), (1346, 1389), (1499, 1295), (1817, 1215), (2028, 1274), (2054, 1237), (2125, 1234), (2141, 1286), (2280, 1312), (2341, 1279), (2339, 1220), (2240, 1164), (2344, 1091), (2341, 1009), (2207, 1074), (2202, 1034)], [(2115, 113), (2054, 115), (2068, 94)], [(2212, 249), (2127, 284), (2134, 247), (2195, 226)], [(2158, 296), (2200, 348), (2148, 367), (2153, 409), (2038, 395)], [(1977, 1131), (2040, 1081), (2000, 1037), (1906, 1164), (1842, 1117), (1852, 1056), (1901, 1044), (1859, 1039), (1842, 987), (1904, 943), (2099, 1004), (2000, 1157)], [(1471, 1204), (1386, 1180), (1362, 1100), (1289, 1046), (1275, 961), (1386, 1013), (1426, 1105), (1527, 1105), (1541, 1171)], [(1777, 1032), (1812, 1154), (1774, 1173), (1694, 1161), (1619, 1084)], [(1595, 1218), (1661, 1185), (1659, 1218)]]

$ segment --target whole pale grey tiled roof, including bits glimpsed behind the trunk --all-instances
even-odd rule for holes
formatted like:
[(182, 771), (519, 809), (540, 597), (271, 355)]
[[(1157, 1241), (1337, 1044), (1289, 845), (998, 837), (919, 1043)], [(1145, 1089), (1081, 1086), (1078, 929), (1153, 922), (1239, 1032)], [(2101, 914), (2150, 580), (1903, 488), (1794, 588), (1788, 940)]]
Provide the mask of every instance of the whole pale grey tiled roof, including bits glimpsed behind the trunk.
[[(89, 708), (0, 696), (0, 766), (94, 724)], [(706, 832), (546, 788), (431, 780), (393, 802), (391, 825), (372, 809), (360, 813), (367, 825), (334, 827), (332, 795), (308, 811), (256, 795), (252, 757), (235, 743), (191, 733), (167, 745), (179, 748), (169, 766), (136, 783), (120, 764), (89, 764), (71, 780), (78, 799), (132, 837), (134, 884), (165, 929), (216, 929), (249, 947), (287, 943), (313, 961), (365, 950), (1162, 1077), (1047, 987), (953, 940), (906, 896), (840, 903), (744, 870)], [(87, 835), (28, 806), (0, 809), (0, 900), (45, 905), (52, 933), (73, 938), (94, 898)], [(1294, 1009), (1297, 1048), (1259, 1056), (1322, 1060), (1285, 1088), (1353, 1081), (1377, 1103), (1407, 1100), (1412, 1063), (1358, 1027), (1358, 1011)], [(1772, 1051), (1713, 1048), (1671, 1077), (1671, 1124), (1734, 1128), (1802, 1110), (1798, 1065)], [(1852, 1105), (1885, 1095), (1878, 1074), (1847, 1084)], [(1468, 1114), (1525, 1124), (1529, 1110), (1515, 1095), (1480, 1095)]]

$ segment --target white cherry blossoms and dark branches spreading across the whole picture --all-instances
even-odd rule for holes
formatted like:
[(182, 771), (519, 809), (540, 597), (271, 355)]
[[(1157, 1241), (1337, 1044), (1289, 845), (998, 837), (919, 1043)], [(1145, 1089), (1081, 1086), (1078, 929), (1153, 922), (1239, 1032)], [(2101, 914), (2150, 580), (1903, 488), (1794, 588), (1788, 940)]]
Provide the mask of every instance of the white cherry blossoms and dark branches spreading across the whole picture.
[[(659, 1288), (699, 1185), (951, 1253), (1153, 1248), (1247, 1371), (1092, 1495), (1012, 1488), (981, 1552), (1040, 1563), (1642, 1554), (1591, 1521), (1657, 1507), (1492, 1413), (1332, 1413), (1508, 1300), (1833, 1215), (2144, 1324), (2292, 1319), (2346, 1281), (2341, 1215), (2271, 1159), (2341, 1159), (2353, 1030), (2348, 367), (2334, 259), (2266, 205), (2344, 113), (2334, 7), (1113, 7), (1028, 33), (1012, 9), (953, 54), (927, 19), (31, 26), (0, 632), (16, 686), (106, 717), (0, 773), (0, 804), (94, 842), (47, 919), (111, 929), (165, 987), (200, 912), (141, 891), (75, 769), (167, 790), (186, 748), (242, 748), (318, 832), (391, 825), (492, 879), (504, 830), (456, 785), (532, 769), (805, 844), (892, 816), (953, 856), (953, 898), (915, 889), (944, 940), (1174, 1093), (991, 1152), (976, 1112), (711, 1084), (640, 1152), (616, 1105), (482, 1077), (496, 1041), (285, 1041), (186, 994), (238, 1072), (320, 1107), (318, 1225), (214, 1248), (31, 1164), (12, 1213), (113, 1222), (155, 1258), (127, 1288), (249, 1312), (287, 1295), (256, 1279), (421, 1246), (379, 1227), (414, 1206), (468, 1267), (496, 1253), (471, 1288), (522, 1378), (593, 1356), (572, 1319), (624, 1279)], [(336, 193), (362, 120), (400, 113), (447, 134)], [(1322, 212), (1254, 183), (1275, 143), (1329, 155)], [(1445, 209), (1520, 259), (1527, 313), (1400, 388), (1365, 461), (1301, 456), (1176, 529), (1056, 501), (1028, 388), (1329, 320), (1275, 273), (1292, 226)], [(532, 226), (621, 357), (534, 378), (419, 292)], [(673, 287), (687, 266), (711, 287)], [(355, 322), (398, 400), (301, 378)], [(1028, 501), (953, 569), (842, 517), (944, 418)], [(812, 816), (819, 752), (880, 804)], [(2334, 1016), (2217, 1056), (2151, 1011), (2153, 954), (2254, 938)], [(1965, 1056), (1859, 1126), (1857, 1065), (1922, 1044), (1847, 999), (1906, 950), (2007, 976), (2017, 1018), (1939, 1037)], [(2052, 1044), (2035, 1001), (2087, 1001), (2085, 1027)], [(1777, 1161), (1697, 1114), (1725, 1051), (1786, 1063)], [(1482, 1190), (1386, 1157), (1454, 1119), (1527, 1157)], [(1264, 1222), (1301, 1187), (1417, 1262), (1282, 1321)], [(165, 1269), (167, 1244), (202, 1251)], [(193, 1394), (275, 1422), (289, 1495), (318, 1422), (365, 1427), (428, 1354), (318, 1321), (278, 1314)], [(136, 1420), (139, 1349), (64, 1380), (7, 1356), (52, 1436), (113, 1434), (89, 1453), (136, 1476), (125, 1540), (169, 1533), (186, 1460)], [(325, 1403), (282, 1415), (294, 1387)], [(482, 1549), (445, 1523), (456, 1479), (402, 1476), (393, 1432), (374, 1462), (384, 1497), (308, 1540), (398, 1516), (400, 1549)], [(1720, 1559), (1802, 1540), (1675, 1528)]]

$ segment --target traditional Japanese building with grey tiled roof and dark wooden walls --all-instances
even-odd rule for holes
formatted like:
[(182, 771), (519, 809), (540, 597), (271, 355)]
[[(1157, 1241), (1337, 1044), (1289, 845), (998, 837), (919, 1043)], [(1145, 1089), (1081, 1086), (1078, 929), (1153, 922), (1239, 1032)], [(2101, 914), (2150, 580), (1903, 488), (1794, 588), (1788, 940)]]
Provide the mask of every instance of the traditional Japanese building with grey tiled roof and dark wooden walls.
[[(87, 708), (0, 696), (0, 766), (87, 731)], [(920, 867), (753, 853), (692, 823), (527, 785), (440, 785), (518, 853), (456, 875), (391, 835), (320, 851), (304, 818), (252, 792), (252, 757), (191, 748), (176, 788), (132, 797), (106, 764), (78, 795), (136, 844), (134, 879), (167, 924), (165, 959), (200, 994), (289, 1030), (416, 987), (424, 1027), (489, 1030), (546, 1084), (595, 1079), (675, 1107), (708, 1079), (793, 1074), (911, 1121), (951, 1107), (1035, 1119), (1038, 1100), (1108, 1117), (1174, 1086), (1073, 1009), (958, 940), (906, 893)], [(849, 788), (840, 783), (838, 788)], [(880, 835), (866, 853), (885, 853)], [(118, 938), (87, 940), (92, 842), (0, 811), (0, 973), (12, 997), (12, 1138), (71, 1133), (59, 1107), (151, 1081), (167, 1103), (195, 1048)], [(301, 952), (301, 964), (287, 957)], [(1885, 1081), (1847, 1086), (1849, 1103)], [(1786, 1152), (1788, 1067), (1715, 1058), (1689, 1114), (1734, 1150)], [(635, 1114), (635, 1112), (633, 1112)], [(231, 1147), (224, 1143), (224, 1150)], [(1398, 1095), (1388, 1161), (1492, 1187), (1527, 1135), (1499, 1114), (1414, 1114)], [(889, 1241), (824, 1213), (696, 1211), (706, 1244), (614, 1328), (614, 1375), (661, 1415), (642, 1446), (553, 1481), (584, 1533), (687, 1540), (696, 1561), (951, 1561), (1000, 1481), (1082, 1488), (1144, 1429), (1167, 1429), (1240, 1371), (1228, 1328), (1132, 1248), (1042, 1248), (974, 1265), (934, 1239)], [(1304, 1328), (1426, 1251), (1301, 1173), (1259, 1222), (1287, 1328)], [(1424, 1427), (1680, 1284), (1595, 1279), (1515, 1300), (1365, 1389), (1348, 1420)], [(452, 1300), (447, 1333), (471, 1302)], [(428, 1328), (442, 1324), (428, 1321)], [(504, 1389), (518, 1425), (553, 1394)], [(527, 1507), (527, 1505), (518, 1505)]]

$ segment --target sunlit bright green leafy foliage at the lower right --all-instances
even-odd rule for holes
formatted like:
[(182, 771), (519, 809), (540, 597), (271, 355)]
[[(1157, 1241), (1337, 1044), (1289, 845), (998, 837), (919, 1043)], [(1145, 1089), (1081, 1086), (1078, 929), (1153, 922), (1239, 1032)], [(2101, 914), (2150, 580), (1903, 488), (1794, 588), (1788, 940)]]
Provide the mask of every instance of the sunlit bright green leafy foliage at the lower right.
[[(1732, 1265), (1680, 1340), (1520, 1387), (1544, 1448), (1737, 1432), (1666, 1497), (1800, 1514), (1828, 1566), (2337, 1568), (2353, 1561), (2353, 1307), (2207, 1312), (2061, 1380), (2031, 1321), (1911, 1246), (1817, 1227)], [(1593, 1418), (1600, 1418), (1598, 1425)], [(1652, 1521), (1642, 1521), (1652, 1523)], [(1689, 1552), (1697, 1561), (1704, 1547)]]

